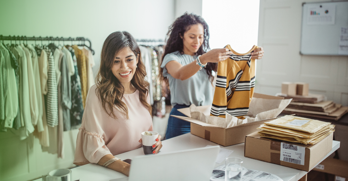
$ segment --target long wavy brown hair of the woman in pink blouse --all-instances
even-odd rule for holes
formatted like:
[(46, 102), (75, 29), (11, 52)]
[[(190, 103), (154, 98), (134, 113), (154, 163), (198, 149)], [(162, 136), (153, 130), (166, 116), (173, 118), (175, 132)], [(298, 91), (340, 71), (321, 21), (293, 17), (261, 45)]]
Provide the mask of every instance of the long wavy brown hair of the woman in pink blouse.
[(127, 105), (122, 102), (125, 88), (111, 71), (117, 53), (127, 47), (132, 50), (136, 58), (139, 58), (137, 63), (138, 67), (130, 83), (139, 91), (140, 102), (149, 110), (150, 115), (152, 115), (152, 107), (147, 103), (149, 83), (144, 80), (146, 69), (141, 60), (140, 48), (130, 33), (118, 31), (111, 33), (103, 43), (100, 55), (100, 68), (96, 77), (96, 94), (102, 102), (105, 112), (114, 119), (117, 119), (113, 112), (114, 107), (120, 110), (124, 116), (129, 119)]

